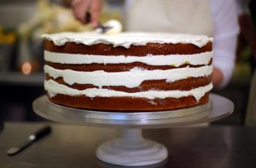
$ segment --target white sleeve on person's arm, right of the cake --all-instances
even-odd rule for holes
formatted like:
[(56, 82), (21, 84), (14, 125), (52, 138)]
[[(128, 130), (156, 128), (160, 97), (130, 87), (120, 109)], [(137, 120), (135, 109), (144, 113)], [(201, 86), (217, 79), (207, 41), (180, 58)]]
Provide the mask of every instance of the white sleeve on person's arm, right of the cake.
[(214, 20), (213, 65), (223, 74), (220, 88), (230, 81), (236, 60), (239, 33), (235, 0), (209, 0)]

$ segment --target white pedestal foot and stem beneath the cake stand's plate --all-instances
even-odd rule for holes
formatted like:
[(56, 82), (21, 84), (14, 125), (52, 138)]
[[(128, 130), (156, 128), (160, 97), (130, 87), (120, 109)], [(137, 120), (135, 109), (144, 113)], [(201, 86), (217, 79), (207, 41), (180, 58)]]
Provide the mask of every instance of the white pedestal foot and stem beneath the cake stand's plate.
[(141, 129), (124, 129), (121, 138), (99, 145), (96, 155), (109, 164), (146, 166), (167, 159), (167, 148), (158, 142), (144, 139)]

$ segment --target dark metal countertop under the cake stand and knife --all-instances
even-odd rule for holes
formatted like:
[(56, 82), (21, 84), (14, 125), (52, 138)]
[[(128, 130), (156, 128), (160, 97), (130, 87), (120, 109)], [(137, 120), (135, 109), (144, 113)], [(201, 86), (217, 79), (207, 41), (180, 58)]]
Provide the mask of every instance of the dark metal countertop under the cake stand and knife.
[[(118, 167), (102, 163), (97, 147), (118, 137), (121, 129), (49, 123), (53, 132), (16, 156), (6, 151), (46, 123), (6, 123), (0, 133), (0, 167)], [(256, 128), (238, 126), (146, 129), (145, 138), (167, 147), (159, 167), (255, 167)]]

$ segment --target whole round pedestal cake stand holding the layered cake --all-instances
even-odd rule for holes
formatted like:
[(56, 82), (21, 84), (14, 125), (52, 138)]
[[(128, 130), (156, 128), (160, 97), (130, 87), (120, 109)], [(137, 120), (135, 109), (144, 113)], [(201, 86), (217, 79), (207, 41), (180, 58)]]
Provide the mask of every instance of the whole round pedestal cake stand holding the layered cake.
[(121, 128), (122, 137), (104, 142), (96, 151), (97, 158), (121, 166), (146, 166), (167, 159), (167, 148), (144, 139), (142, 129), (159, 129), (209, 123), (233, 112), (234, 104), (223, 96), (211, 93), (206, 104), (180, 110), (160, 112), (104, 112), (79, 110), (53, 104), (47, 96), (33, 102), (37, 115), (51, 121), (86, 126)]

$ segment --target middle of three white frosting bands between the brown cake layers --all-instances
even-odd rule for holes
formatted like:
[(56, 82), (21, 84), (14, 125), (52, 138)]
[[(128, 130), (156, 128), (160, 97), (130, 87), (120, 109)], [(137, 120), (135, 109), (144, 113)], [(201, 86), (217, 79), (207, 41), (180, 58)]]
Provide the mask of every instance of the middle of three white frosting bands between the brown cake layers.
[(213, 67), (210, 65), (200, 66), (197, 68), (178, 68), (167, 70), (145, 70), (135, 67), (127, 72), (105, 72), (102, 70), (94, 72), (78, 72), (70, 69), (54, 69), (51, 66), (45, 65), (45, 73), (56, 79), (63, 77), (65, 83), (72, 85), (92, 84), (101, 88), (106, 86), (124, 85), (127, 88), (135, 88), (145, 80), (166, 80), (174, 82), (176, 80), (187, 79), (187, 77), (204, 77), (211, 75)]

